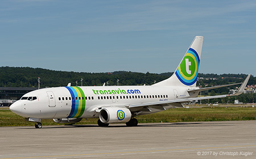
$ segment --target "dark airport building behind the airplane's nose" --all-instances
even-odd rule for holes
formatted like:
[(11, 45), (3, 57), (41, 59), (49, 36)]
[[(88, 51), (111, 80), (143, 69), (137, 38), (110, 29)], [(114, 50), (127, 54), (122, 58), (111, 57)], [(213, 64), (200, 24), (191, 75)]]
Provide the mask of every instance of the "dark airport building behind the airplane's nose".
[(24, 94), (38, 88), (32, 87), (0, 87), (0, 106), (10, 106)]

